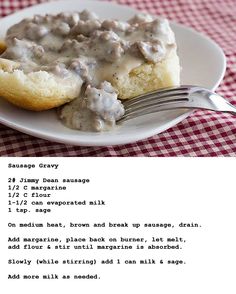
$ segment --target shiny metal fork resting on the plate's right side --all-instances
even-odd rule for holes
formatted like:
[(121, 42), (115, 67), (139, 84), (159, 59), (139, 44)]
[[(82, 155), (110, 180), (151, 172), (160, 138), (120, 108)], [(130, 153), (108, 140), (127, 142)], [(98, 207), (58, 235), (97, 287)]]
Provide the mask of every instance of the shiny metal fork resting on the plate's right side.
[(146, 114), (172, 109), (204, 109), (236, 115), (236, 107), (220, 95), (198, 86), (163, 88), (123, 102), (124, 122)]

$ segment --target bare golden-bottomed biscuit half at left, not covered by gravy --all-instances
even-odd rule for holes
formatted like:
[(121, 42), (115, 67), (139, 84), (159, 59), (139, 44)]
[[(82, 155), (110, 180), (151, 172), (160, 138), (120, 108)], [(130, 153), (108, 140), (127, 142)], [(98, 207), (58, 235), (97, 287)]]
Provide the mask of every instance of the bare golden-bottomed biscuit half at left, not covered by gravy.
[(82, 80), (60, 79), (45, 71), (25, 74), (19, 63), (0, 59), (0, 96), (12, 104), (34, 111), (51, 109), (76, 98)]

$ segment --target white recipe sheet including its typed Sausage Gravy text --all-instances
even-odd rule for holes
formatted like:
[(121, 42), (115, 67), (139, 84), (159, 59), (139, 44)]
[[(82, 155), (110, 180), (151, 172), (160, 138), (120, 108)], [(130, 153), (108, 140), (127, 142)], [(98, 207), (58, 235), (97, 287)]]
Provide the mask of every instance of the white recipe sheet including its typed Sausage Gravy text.
[(234, 167), (1, 158), (3, 293), (236, 293)]

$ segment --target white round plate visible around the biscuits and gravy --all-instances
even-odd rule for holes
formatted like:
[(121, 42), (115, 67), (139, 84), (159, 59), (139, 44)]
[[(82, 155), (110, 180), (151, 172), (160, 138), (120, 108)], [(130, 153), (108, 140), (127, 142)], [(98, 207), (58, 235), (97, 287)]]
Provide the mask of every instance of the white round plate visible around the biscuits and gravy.
[[(137, 11), (130, 7), (108, 2), (88, 0), (67, 0), (40, 4), (19, 11), (0, 20), (0, 39), (9, 26), (22, 18), (34, 14), (55, 14), (61, 11), (92, 10), (102, 18), (126, 20)], [(182, 84), (201, 85), (214, 90), (225, 72), (225, 56), (221, 48), (209, 38), (187, 28), (172, 23), (176, 34), (181, 60)], [(50, 141), (81, 146), (108, 146), (141, 140), (176, 125), (190, 112), (168, 111), (123, 124), (120, 128), (104, 133), (90, 133), (70, 130), (58, 120), (54, 110), (35, 113), (18, 109), (3, 99), (0, 100), (0, 122), (24, 133)]]

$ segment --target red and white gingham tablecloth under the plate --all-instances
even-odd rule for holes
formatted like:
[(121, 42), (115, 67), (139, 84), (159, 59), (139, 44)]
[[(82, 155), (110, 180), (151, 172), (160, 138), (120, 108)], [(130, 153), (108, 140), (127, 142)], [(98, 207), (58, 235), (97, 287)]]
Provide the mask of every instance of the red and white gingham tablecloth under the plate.
[[(85, 0), (86, 1), (86, 0)], [(46, 0), (0, 0), (0, 16)], [(115, 2), (115, 1), (113, 1)], [(119, 0), (120, 4), (193, 27), (215, 40), (227, 57), (217, 92), (236, 105), (236, 0)], [(0, 125), (1, 156), (236, 156), (236, 117), (196, 111), (147, 140), (113, 147), (48, 142)]]

